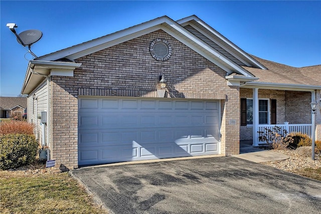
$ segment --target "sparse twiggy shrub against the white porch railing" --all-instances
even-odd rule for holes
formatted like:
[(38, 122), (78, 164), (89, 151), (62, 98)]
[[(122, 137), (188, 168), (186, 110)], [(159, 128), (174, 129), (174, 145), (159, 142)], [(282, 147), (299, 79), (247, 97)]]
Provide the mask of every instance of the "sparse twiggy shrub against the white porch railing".
[(272, 129), (265, 128), (265, 131), (258, 133), (260, 140), (265, 141), (272, 149), (285, 149), (293, 141), (287, 131), (282, 132), (279, 126), (274, 126)]

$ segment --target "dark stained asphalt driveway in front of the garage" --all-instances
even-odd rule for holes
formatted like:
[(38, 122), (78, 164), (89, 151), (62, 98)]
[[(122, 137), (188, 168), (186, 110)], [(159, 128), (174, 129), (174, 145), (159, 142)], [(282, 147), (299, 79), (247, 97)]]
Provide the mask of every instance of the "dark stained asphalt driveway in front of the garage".
[(111, 213), (321, 213), (321, 182), (236, 157), (72, 171)]

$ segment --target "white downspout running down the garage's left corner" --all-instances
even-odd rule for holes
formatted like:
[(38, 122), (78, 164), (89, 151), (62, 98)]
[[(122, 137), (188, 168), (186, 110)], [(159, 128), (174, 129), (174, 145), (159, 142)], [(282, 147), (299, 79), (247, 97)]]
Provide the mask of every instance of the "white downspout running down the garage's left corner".
[[(34, 71), (32, 68), (30, 68), (31, 73), (35, 74), (35, 75), (39, 75), (39, 76), (43, 76), (46, 78), (47, 80), (47, 142), (46, 144), (48, 144), (48, 149), (47, 149), (47, 160), (50, 160), (50, 150), (51, 150), (51, 143), (50, 143), (50, 89), (51, 89), (51, 81), (50, 81), (50, 77), (46, 74), (40, 74), (36, 71)], [(44, 133), (43, 133), (44, 135)], [(45, 139), (45, 137), (43, 137), (43, 139)]]

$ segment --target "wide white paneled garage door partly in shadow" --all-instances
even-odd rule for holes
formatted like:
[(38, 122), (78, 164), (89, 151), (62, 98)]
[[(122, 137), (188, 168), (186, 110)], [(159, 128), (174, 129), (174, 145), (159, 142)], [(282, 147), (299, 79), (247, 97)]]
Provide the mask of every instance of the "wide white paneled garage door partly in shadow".
[(78, 100), (79, 165), (219, 154), (218, 100)]

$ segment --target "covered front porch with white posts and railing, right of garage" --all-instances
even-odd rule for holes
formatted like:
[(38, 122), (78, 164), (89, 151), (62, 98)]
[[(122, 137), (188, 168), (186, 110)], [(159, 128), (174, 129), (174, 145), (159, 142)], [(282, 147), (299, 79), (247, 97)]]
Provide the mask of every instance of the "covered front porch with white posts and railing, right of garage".
[(312, 111), (310, 103), (318, 101), (315, 139), (320, 126), (320, 91), (307, 88), (240, 88), (240, 152), (244, 142), (259, 146), (259, 132), (280, 127), (280, 134), (300, 132), (312, 136)]

